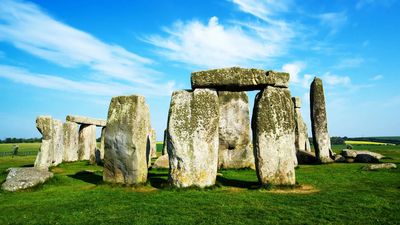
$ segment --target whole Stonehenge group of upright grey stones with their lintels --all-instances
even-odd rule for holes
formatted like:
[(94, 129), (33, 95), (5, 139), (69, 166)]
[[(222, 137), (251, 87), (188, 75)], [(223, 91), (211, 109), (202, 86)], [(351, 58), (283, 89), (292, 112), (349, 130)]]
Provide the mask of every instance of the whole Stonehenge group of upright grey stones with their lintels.
[[(63, 124), (40, 116), (43, 138), (35, 167), (104, 159), (103, 180), (124, 185), (146, 183), (149, 168), (168, 168), (168, 181), (178, 188), (213, 186), (218, 169), (251, 168), (261, 185), (295, 185), (298, 159), (328, 163), (334, 157), (322, 81), (315, 78), (310, 89), (314, 153), (289, 78), (239, 67), (193, 72), (192, 89), (172, 93), (162, 156), (153, 167), (156, 132), (143, 96), (113, 97), (107, 120), (68, 115)], [(250, 117), (251, 90), (259, 93)], [(96, 126), (102, 127), (99, 149)]]

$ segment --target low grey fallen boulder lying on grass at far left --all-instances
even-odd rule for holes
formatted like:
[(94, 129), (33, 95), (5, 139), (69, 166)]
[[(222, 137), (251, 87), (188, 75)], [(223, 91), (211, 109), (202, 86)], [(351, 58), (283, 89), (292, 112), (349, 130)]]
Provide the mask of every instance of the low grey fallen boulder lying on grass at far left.
[(53, 173), (35, 167), (10, 168), (1, 188), (6, 191), (18, 191), (42, 184), (51, 177)]

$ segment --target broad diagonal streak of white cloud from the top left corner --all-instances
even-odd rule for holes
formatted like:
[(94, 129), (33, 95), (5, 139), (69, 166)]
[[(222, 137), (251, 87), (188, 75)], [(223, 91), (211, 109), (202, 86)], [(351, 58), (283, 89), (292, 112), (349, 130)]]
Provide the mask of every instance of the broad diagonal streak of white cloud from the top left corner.
[(149, 68), (152, 60), (59, 22), (31, 3), (0, 2), (0, 41), (61, 67), (88, 68), (103, 79), (160, 86), (150, 77), (158, 74)]

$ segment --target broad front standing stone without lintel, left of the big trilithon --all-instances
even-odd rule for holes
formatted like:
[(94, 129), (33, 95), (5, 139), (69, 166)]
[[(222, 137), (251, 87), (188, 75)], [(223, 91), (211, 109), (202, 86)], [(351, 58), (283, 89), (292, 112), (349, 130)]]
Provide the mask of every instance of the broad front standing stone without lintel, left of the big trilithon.
[(112, 98), (104, 140), (104, 181), (129, 185), (146, 182), (149, 127), (149, 107), (143, 96)]

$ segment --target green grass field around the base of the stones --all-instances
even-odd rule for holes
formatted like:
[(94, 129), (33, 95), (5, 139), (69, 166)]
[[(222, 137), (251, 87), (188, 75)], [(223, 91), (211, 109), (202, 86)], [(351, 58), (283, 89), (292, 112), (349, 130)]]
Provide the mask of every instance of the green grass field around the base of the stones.
[[(400, 166), (399, 146), (354, 147)], [(0, 157), (0, 182), (7, 168), (34, 158)], [(145, 186), (124, 187), (103, 183), (102, 167), (66, 163), (40, 187), (0, 192), (0, 224), (398, 224), (400, 169), (364, 165), (301, 165), (295, 189), (260, 189), (253, 170), (222, 170), (214, 188), (177, 190), (167, 170), (150, 170)]]

